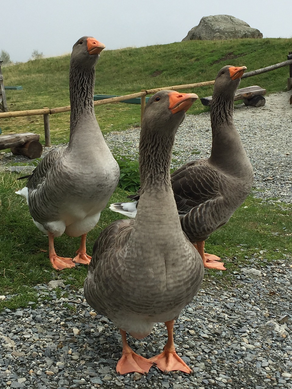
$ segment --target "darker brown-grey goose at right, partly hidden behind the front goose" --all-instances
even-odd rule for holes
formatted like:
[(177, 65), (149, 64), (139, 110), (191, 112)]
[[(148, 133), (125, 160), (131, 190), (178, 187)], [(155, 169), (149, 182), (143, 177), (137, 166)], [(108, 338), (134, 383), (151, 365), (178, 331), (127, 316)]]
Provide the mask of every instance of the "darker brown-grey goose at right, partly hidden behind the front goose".
[[(171, 175), (181, 226), (201, 254), (204, 267), (226, 270), (218, 256), (204, 252), (205, 240), (226, 224), (253, 184), (253, 168), (233, 121), (234, 95), (245, 66), (227, 65), (215, 79), (211, 101), (212, 148)], [(139, 199), (139, 195), (130, 196)], [(110, 209), (135, 217), (137, 202), (113, 203)]]

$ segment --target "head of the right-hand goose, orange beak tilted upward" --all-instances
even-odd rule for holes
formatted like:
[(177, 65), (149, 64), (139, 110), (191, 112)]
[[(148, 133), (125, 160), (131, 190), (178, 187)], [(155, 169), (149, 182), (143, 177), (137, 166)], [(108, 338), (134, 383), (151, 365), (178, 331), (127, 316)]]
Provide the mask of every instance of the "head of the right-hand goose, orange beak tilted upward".
[(228, 93), (230, 95), (234, 94), (246, 69), (246, 66), (224, 66), (219, 70), (215, 79), (214, 93)]

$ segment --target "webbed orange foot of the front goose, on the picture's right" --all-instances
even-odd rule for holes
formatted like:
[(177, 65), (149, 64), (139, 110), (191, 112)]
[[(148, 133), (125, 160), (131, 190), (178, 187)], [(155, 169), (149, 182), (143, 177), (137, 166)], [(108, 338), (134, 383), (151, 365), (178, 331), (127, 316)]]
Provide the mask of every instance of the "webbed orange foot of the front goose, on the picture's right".
[(163, 350), (161, 354), (150, 358), (150, 361), (154, 362), (158, 369), (165, 373), (175, 370), (183, 371), (184, 373), (192, 373), (192, 369), (188, 367), (175, 351)]

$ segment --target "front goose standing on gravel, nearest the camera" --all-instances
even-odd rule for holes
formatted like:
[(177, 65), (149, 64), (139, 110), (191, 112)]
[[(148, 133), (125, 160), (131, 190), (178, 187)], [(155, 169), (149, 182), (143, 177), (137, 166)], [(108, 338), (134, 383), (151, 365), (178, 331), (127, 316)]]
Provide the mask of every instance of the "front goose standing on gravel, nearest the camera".
[[(173, 326), (199, 290), (204, 266), (181, 229), (170, 163), (174, 135), (197, 98), (194, 93), (167, 90), (151, 96), (141, 126), (137, 215), (111, 223), (93, 246), (84, 295), (120, 329), (123, 350), (116, 365), (120, 374), (147, 373), (153, 364), (162, 371), (191, 372), (176, 354)], [(165, 323), (168, 340), (164, 351), (149, 360), (129, 347), (126, 331), (141, 339), (155, 322)]]

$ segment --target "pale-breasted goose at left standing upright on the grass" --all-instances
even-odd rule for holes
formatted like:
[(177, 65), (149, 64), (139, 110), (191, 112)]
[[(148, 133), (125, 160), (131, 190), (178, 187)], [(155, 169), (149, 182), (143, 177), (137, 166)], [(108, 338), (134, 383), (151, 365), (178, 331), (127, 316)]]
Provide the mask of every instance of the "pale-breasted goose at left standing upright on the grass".
[[(26, 198), (33, 222), (49, 238), (49, 259), (57, 270), (88, 264), (86, 234), (99, 221), (113, 194), (120, 168), (102, 136), (93, 106), (95, 65), (104, 44), (82, 37), (70, 60), (70, 138), (68, 146), (50, 151), (17, 191)], [(75, 258), (56, 254), (54, 238), (81, 236)]]

